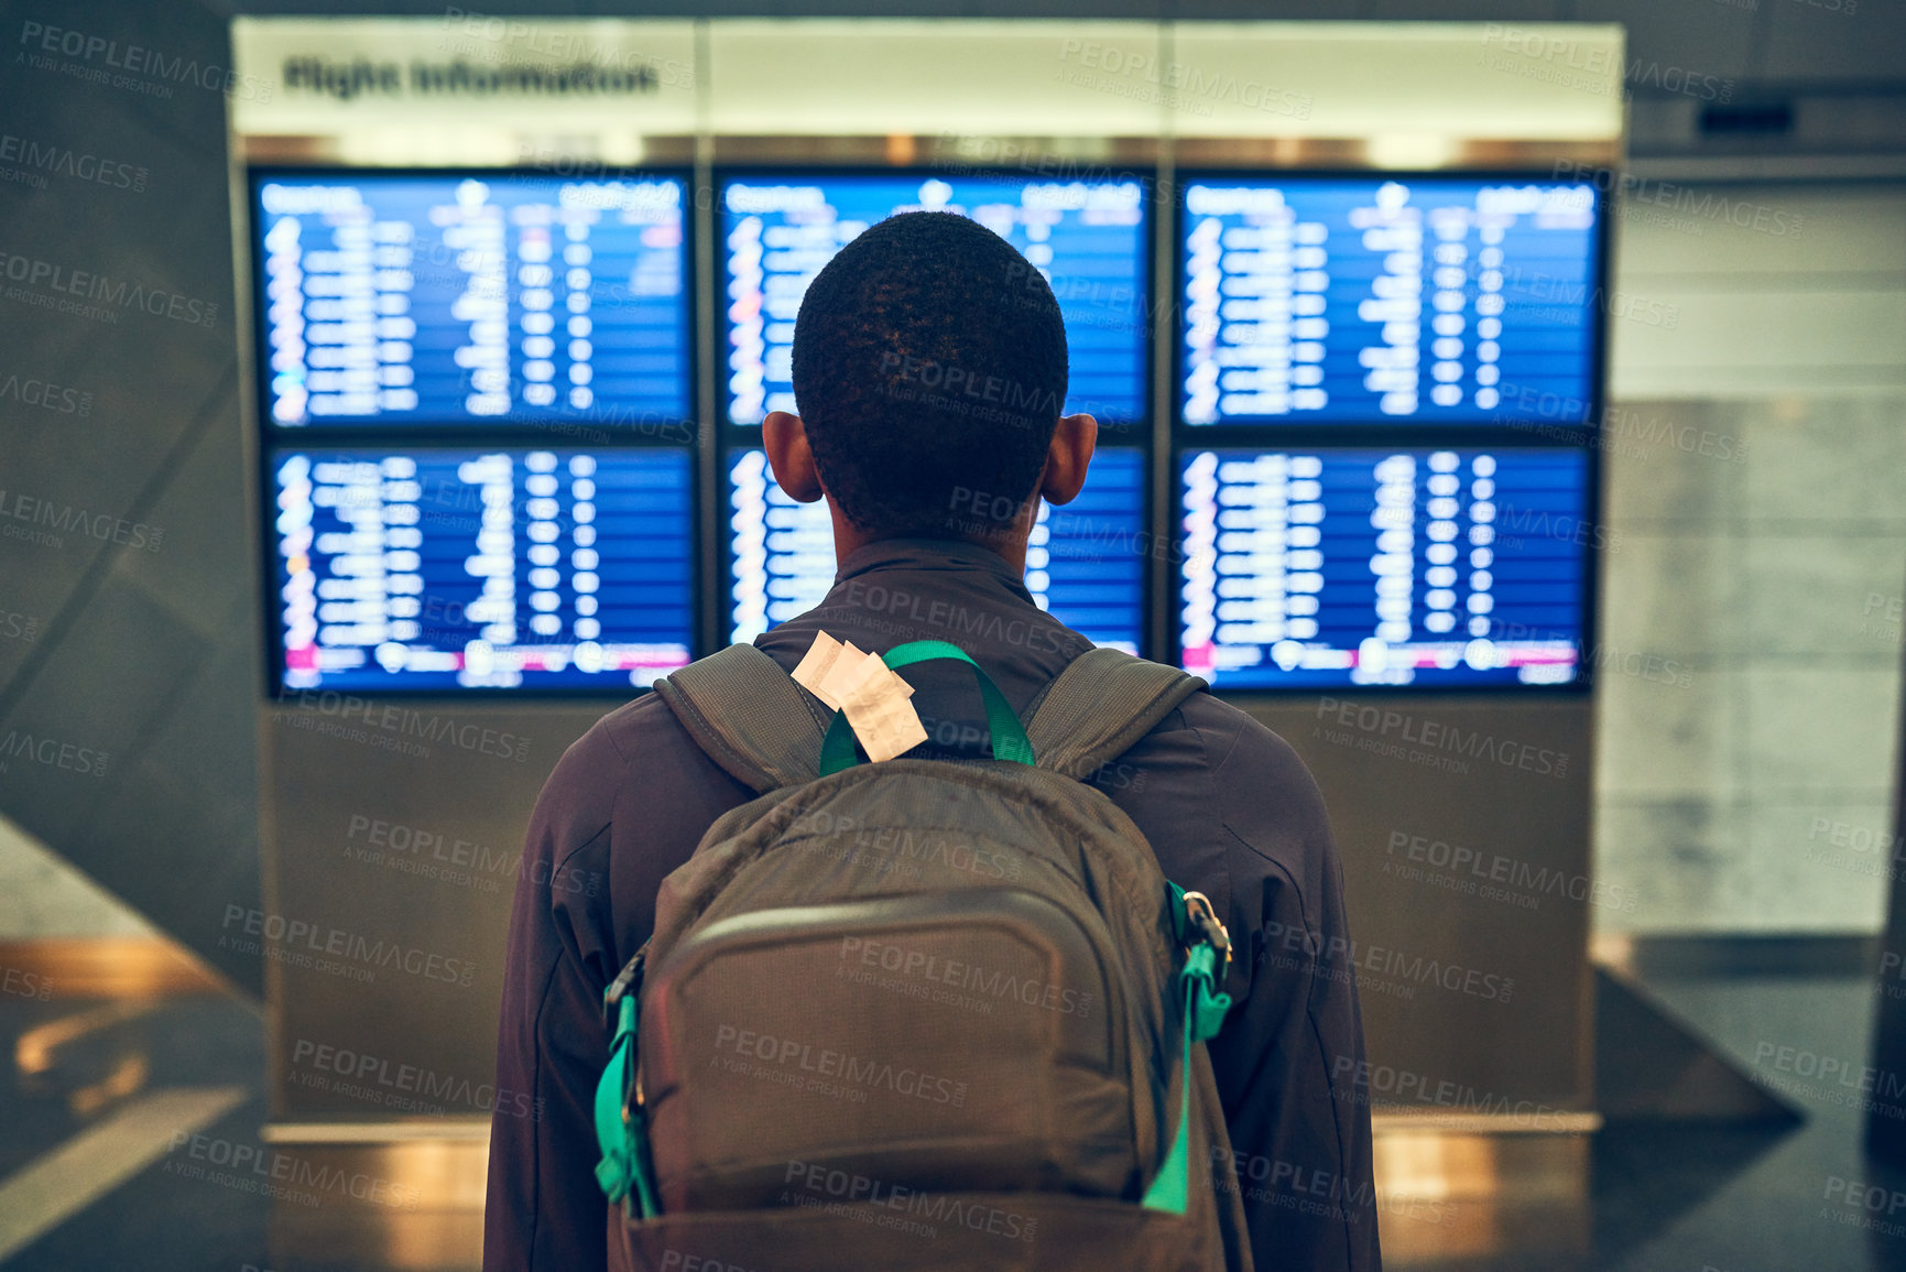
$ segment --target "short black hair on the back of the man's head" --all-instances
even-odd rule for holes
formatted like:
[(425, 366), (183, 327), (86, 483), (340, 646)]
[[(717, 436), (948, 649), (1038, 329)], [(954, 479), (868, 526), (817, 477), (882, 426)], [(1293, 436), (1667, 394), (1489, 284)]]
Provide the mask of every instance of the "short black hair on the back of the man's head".
[(795, 318), (814, 465), (846, 519), (881, 538), (1004, 530), (970, 509), (1035, 494), (1067, 370), (1044, 277), (953, 212), (869, 227), (814, 277)]

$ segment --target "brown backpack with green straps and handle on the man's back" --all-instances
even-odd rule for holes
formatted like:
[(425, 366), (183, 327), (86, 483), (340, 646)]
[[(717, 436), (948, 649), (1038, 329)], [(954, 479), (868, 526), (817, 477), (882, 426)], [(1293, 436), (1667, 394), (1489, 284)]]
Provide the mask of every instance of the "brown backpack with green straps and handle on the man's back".
[(604, 994), (627, 1266), (1248, 1272), (1203, 1047), (1229, 940), (1090, 786), (1205, 683), (1094, 648), (1022, 727), (955, 645), (884, 654), (936, 658), (974, 669), (991, 759), (858, 763), (751, 645), (658, 683), (759, 797)]

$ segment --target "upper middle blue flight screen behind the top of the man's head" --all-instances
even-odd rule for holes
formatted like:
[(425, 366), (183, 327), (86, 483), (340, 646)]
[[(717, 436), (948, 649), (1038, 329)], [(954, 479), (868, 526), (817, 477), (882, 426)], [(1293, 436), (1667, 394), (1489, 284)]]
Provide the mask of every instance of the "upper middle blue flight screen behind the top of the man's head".
[(985, 225), (1052, 284), (1071, 362), (1067, 414), (1146, 416), (1149, 242), (1136, 179), (738, 175), (722, 183), (720, 208), (730, 423), (795, 410), (795, 315), (808, 282), (875, 221), (923, 210)]

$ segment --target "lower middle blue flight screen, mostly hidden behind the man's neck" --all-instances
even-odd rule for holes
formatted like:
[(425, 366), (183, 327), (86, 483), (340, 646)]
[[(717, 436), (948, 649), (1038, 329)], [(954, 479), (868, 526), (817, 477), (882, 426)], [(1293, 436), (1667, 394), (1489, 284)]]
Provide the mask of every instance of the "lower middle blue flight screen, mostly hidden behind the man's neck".
[[(1041, 502), (1025, 549), (1025, 587), (1039, 608), (1094, 645), (1140, 652), (1146, 631), (1144, 452), (1109, 446), (1064, 507)], [(736, 643), (821, 603), (835, 580), (827, 505), (797, 503), (760, 450), (728, 452), (730, 610)], [(957, 639), (957, 637), (955, 637)]]

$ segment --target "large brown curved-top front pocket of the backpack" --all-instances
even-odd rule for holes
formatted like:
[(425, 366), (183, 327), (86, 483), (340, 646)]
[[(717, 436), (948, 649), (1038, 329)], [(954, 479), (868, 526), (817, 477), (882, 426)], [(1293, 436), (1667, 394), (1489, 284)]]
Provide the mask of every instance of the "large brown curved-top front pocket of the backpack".
[(1109, 954), (1018, 889), (709, 923), (644, 990), (663, 1213), (791, 1205), (816, 1171), (907, 1194), (1134, 1198)]

